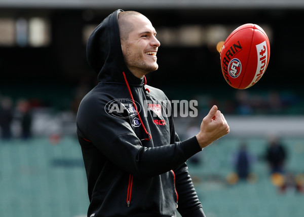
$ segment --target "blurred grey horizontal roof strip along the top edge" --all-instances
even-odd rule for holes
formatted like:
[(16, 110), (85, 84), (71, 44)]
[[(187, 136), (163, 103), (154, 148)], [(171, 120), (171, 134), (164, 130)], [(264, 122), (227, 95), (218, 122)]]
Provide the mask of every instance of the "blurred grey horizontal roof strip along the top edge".
[(9, 8), (304, 8), (302, 0), (0, 0)]

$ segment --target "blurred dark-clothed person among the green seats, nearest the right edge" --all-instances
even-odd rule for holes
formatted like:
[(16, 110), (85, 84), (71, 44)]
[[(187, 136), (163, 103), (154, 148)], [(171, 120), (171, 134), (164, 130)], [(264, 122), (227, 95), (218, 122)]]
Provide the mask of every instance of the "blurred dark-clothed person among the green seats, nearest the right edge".
[(271, 136), (265, 153), (265, 159), (270, 166), (270, 172), (272, 174), (284, 173), (286, 157), (287, 154), (283, 144), (279, 141), (277, 136)]

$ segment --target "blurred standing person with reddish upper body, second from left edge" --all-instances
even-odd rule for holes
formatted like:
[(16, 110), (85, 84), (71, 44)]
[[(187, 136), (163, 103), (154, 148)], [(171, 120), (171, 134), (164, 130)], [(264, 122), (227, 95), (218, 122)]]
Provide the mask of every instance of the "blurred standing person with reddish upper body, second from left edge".
[(32, 136), (32, 115), (30, 103), (27, 100), (20, 100), (17, 104), (17, 110), (20, 112), (21, 137), (23, 139), (28, 139)]

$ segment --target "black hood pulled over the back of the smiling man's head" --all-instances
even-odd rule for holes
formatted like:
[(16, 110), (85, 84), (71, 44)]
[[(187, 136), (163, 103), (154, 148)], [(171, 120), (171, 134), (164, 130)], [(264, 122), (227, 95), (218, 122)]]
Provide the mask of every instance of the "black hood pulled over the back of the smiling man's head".
[(122, 11), (111, 13), (94, 29), (87, 43), (87, 60), (99, 82), (124, 83), (124, 71), (130, 84), (142, 84), (143, 78), (135, 77), (124, 61), (118, 26)]

